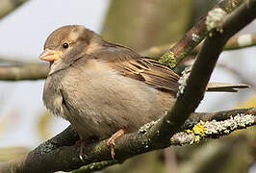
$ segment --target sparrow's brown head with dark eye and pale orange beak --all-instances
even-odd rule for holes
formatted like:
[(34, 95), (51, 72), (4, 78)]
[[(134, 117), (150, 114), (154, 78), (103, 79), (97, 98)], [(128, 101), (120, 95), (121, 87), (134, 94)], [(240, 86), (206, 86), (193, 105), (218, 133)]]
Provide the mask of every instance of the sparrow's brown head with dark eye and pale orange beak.
[(50, 62), (51, 66), (58, 64), (60, 69), (96, 50), (102, 41), (100, 36), (84, 26), (67, 25), (47, 37), (39, 59)]

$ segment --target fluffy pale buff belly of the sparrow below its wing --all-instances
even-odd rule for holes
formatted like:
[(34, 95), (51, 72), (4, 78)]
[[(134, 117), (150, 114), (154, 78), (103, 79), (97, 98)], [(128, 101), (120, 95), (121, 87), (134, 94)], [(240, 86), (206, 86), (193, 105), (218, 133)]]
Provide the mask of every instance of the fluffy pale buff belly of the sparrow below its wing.
[(114, 70), (76, 70), (70, 70), (62, 79), (67, 108), (62, 116), (81, 138), (106, 138), (121, 128), (134, 132), (163, 116), (174, 100), (169, 94)]

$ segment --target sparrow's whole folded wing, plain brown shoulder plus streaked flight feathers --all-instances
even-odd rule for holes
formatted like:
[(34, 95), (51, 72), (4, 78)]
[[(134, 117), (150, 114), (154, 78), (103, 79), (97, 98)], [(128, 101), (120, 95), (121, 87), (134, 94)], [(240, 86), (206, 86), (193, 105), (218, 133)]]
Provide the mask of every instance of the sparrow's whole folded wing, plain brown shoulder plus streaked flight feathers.
[(141, 57), (129, 48), (111, 45), (96, 57), (109, 62), (123, 76), (173, 94), (178, 92), (179, 76), (175, 72), (156, 60)]

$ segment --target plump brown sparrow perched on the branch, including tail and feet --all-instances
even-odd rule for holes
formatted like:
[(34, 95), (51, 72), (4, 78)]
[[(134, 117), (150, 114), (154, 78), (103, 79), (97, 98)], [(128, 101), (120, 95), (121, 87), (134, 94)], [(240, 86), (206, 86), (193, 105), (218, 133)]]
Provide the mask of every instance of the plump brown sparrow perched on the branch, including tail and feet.
[[(163, 117), (179, 91), (180, 76), (129, 47), (104, 40), (82, 25), (66, 25), (49, 35), (39, 59), (50, 63), (44, 83), (47, 110), (70, 122), (80, 140), (115, 139)], [(236, 91), (246, 85), (210, 85)], [(80, 159), (83, 160), (83, 145)]]

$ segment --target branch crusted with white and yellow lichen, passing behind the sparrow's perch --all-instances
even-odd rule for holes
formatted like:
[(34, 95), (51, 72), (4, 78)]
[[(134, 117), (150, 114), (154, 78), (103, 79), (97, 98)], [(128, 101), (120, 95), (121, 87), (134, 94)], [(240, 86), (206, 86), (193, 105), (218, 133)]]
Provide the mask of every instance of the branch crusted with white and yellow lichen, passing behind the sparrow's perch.
[[(244, 129), (248, 126), (253, 126), (256, 123), (255, 109), (218, 111), (218, 112), (203, 112), (192, 113), (188, 122), (183, 129), (186, 132), (179, 132), (170, 138), (171, 145), (192, 145), (199, 143), (207, 138), (218, 138), (220, 136), (227, 136), (237, 129)], [(246, 112), (246, 115), (244, 114)], [(235, 116), (234, 116), (235, 115)], [(233, 117), (234, 116), (234, 117)], [(253, 119), (254, 118), (254, 119)], [(202, 122), (203, 119), (206, 122)], [(198, 124), (196, 124), (199, 122)], [(244, 124), (245, 123), (245, 124)], [(192, 127), (193, 126), (193, 127)], [(191, 128), (192, 127), (192, 128)], [(234, 129), (234, 127), (236, 127)], [(113, 164), (120, 163), (117, 161), (100, 161), (83, 166), (80, 169), (72, 171), (74, 173), (92, 172), (95, 170), (102, 170)]]

